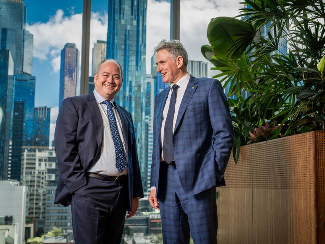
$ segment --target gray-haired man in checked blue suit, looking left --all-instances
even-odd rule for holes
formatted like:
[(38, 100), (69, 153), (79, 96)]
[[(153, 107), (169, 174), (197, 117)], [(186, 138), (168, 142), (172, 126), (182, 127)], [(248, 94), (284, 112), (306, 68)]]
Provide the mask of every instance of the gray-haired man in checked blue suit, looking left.
[(157, 71), (170, 87), (156, 97), (149, 202), (160, 209), (166, 244), (217, 243), (216, 186), (233, 143), (229, 107), (218, 80), (188, 74), (178, 40), (155, 48)]

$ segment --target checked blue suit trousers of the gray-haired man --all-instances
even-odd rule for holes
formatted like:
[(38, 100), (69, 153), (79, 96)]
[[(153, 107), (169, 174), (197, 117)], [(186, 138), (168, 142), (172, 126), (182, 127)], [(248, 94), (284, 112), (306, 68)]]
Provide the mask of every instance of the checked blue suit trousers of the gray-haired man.
[[(176, 162), (177, 167), (177, 162)], [(179, 172), (181, 173), (181, 172)], [(177, 169), (160, 163), (159, 208), (164, 244), (217, 243), (216, 187), (196, 195), (186, 194)]]

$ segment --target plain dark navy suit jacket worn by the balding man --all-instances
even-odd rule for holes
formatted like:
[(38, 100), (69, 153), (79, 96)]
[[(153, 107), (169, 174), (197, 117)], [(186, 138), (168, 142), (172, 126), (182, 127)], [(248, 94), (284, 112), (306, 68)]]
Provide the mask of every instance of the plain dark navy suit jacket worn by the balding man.
[[(114, 102), (120, 116), (128, 157), (129, 204), (143, 197), (136, 138), (131, 114)], [(68, 206), (71, 195), (87, 184), (86, 172), (99, 159), (103, 141), (103, 120), (93, 93), (63, 100), (56, 122), (55, 152), (60, 177), (55, 203)]]

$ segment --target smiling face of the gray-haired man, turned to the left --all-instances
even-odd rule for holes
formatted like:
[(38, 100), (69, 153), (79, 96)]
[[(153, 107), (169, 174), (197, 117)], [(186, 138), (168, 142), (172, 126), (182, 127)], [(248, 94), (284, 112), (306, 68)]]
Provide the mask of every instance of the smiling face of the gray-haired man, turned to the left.
[[(166, 49), (161, 49), (156, 54), (157, 72), (160, 72), (163, 82), (176, 83), (184, 76), (183, 58), (178, 56), (173, 59)], [(185, 73), (186, 74), (186, 73)]]

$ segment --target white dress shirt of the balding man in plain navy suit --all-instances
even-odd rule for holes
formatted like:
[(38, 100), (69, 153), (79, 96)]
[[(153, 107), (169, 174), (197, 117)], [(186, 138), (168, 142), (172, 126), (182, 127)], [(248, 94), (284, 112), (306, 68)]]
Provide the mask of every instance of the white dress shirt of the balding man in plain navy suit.
[[(115, 167), (115, 148), (114, 148), (114, 142), (112, 138), (111, 128), (107, 117), (107, 111), (106, 111), (106, 105), (104, 104), (104, 101), (106, 100), (103, 98), (95, 89), (94, 89), (94, 96), (99, 108), (99, 111), (102, 116), (103, 120), (103, 141), (102, 141), (102, 148), (101, 148), (101, 156), (99, 159), (94, 163), (93, 167), (88, 171), (91, 173), (98, 173), (98, 174), (104, 174), (109, 176), (119, 176), (121, 174), (127, 174), (128, 173), (128, 167), (120, 173), (116, 167)], [(114, 102), (114, 99), (110, 101), (112, 104)], [(123, 131), (122, 131), (122, 123), (119, 114), (116, 111), (116, 108), (114, 107), (114, 104), (112, 106), (113, 113), (116, 118), (117, 127), (119, 130), (120, 138), (123, 144), (123, 149), (125, 153), (125, 158), (128, 160), (126, 150), (125, 150), (125, 142), (123, 138)], [(94, 135), (95, 136), (95, 135)], [(128, 162), (126, 162), (128, 165)]]

